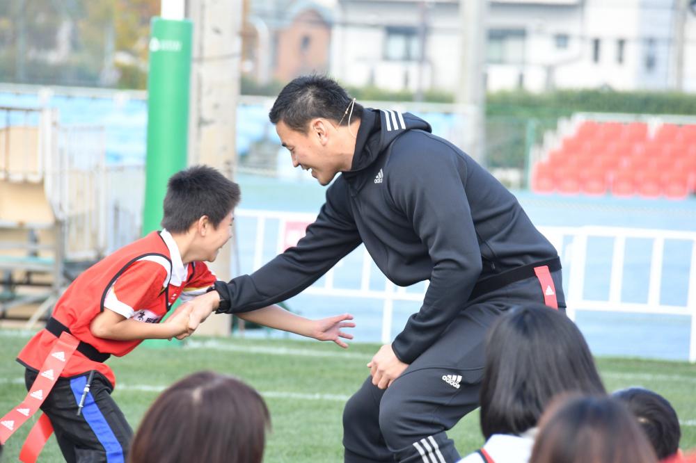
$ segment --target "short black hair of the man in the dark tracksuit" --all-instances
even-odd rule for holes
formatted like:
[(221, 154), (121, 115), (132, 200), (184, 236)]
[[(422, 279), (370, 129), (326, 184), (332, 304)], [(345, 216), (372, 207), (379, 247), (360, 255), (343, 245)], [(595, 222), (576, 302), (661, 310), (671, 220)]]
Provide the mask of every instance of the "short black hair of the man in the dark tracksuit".
[[(351, 109), (349, 117), (346, 110)], [(273, 124), (283, 121), (290, 129), (307, 133), (308, 123), (316, 117), (347, 125), (349, 118), (352, 122), (362, 114), (363, 106), (353, 104), (345, 88), (331, 77), (312, 74), (297, 77), (280, 90), (268, 117)]]

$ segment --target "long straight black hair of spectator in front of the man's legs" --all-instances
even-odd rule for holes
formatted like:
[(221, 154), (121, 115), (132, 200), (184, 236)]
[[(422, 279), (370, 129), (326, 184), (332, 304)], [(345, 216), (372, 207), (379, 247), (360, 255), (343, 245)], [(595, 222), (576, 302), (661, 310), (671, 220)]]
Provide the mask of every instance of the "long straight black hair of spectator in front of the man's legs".
[(606, 393), (578, 327), (542, 304), (514, 307), (493, 323), (484, 371), (480, 419), (486, 439), (534, 428), (558, 393)]

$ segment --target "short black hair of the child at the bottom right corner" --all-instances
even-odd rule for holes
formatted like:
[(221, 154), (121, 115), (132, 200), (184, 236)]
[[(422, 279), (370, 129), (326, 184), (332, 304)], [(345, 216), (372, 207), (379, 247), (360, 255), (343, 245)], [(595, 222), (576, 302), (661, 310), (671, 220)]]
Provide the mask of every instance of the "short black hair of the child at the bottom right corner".
[(677, 453), (681, 439), (679, 417), (667, 399), (642, 387), (622, 389), (613, 396), (622, 400), (638, 419), (660, 460)]

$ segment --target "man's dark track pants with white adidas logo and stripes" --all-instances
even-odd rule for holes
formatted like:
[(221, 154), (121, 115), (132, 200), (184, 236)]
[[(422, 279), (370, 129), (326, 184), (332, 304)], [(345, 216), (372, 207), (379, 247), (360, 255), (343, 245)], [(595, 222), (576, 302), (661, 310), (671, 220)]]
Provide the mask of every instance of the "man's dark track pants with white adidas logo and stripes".
[[(564, 310), (560, 271), (551, 275)], [(525, 302), (544, 303), (536, 278), (471, 301), (387, 389), (377, 389), (368, 376), (343, 412), (345, 462), (459, 461), (445, 432), (479, 405), (487, 330), (504, 311)]]

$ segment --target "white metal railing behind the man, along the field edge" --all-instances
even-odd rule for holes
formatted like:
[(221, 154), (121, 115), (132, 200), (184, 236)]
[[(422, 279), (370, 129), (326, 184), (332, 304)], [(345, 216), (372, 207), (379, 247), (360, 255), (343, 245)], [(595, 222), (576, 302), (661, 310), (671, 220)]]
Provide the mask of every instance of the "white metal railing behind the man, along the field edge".
[[(313, 222), (315, 216), (306, 213), (287, 213), (281, 211), (260, 211), (239, 209), (235, 216), (240, 224), (245, 221), (253, 221), (252, 229), (255, 242), (253, 243), (253, 257), (251, 268), (241, 270), (251, 272), (260, 268), (269, 258), (269, 252), (282, 252), (286, 247), (294, 245), (301, 237), (297, 229), (301, 225)], [(272, 223), (272, 226), (269, 224)], [(246, 222), (248, 226), (249, 223)], [(276, 231), (276, 239), (267, 239), (267, 229)], [(290, 234), (288, 234), (290, 230)], [(607, 311), (640, 314), (659, 314), (669, 316), (690, 317), (690, 343), (688, 359), (696, 362), (696, 232), (674, 232), (659, 229), (633, 229), (620, 227), (539, 227), (544, 236), (548, 238), (556, 249), (564, 263), (564, 278), (568, 282), (567, 313), (571, 319), (576, 318), (576, 311)], [(290, 236), (292, 235), (292, 236)], [(592, 238), (607, 238), (612, 241), (612, 255), (609, 270), (608, 298), (591, 298), (587, 293), (587, 279), (585, 275), (588, 269), (587, 256), (590, 252), (588, 245)], [(647, 240), (651, 242), (651, 258), (649, 277), (647, 280), (647, 300), (645, 302), (627, 302), (622, 298), (624, 282), (624, 270), (626, 268), (626, 241), (631, 239)], [(661, 286), (663, 280), (663, 268), (665, 266), (665, 242), (679, 241), (690, 243), (690, 267), (688, 270), (688, 294), (686, 305), (664, 304), (661, 302)], [(274, 243), (271, 245), (270, 243)], [(269, 250), (269, 247), (275, 249)], [(427, 282), (423, 291), (408, 291), (406, 288), (397, 287), (388, 279), (383, 279), (383, 286), (374, 289), (371, 282), (372, 259), (367, 254), (364, 246), (358, 247), (354, 252), (362, 254), (360, 263), (360, 284), (354, 287), (340, 287), (334, 284), (334, 269), (326, 273), (313, 286), (304, 291), (306, 294), (321, 295), (325, 298), (370, 298), (382, 301), (382, 326), (381, 341), (390, 341), (394, 303), (397, 301), (422, 301)], [(264, 259), (265, 258), (265, 259)], [(592, 291), (590, 291), (592, 293)]]

